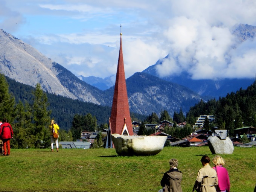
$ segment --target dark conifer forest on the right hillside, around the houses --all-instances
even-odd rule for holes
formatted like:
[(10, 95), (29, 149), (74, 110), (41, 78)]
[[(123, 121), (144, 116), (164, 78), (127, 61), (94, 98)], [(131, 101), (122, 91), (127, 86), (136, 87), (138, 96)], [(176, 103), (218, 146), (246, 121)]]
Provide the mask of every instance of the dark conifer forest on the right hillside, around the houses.
[[(190, 107), (186, 113), (186, 117), (182, 109), (179, 113), (174, 111), (173, 118), (164, 110), (160, 114), (160, 118), (156, 113), (152, 113), (139, 129), (139, 135), (152, 134), (152, 130), (146, 130), (145, 124), (157, 124), (163, 120), (168, 120), (174, 123), (173, 127), (165, 126), (164, 132), (179, 139), (188, 136), (193, 131), (193, 125), (197, 122), (200, 115), (213, 115), (215, 120), (209, 122), (206, 117), (204, 120), (204, 130), (211, 130), (213, 126), (218, 129), (227, 130), (229, 136), (234, 136), (234, 129), (243, 126), (256, 127), (256, 81), (247, 87), (247, 89), (236, 91), (236, 93), (228, 93), (226, 97), (220, 97), (219, 100), (210, 99), (207, 102), (201, 100), (198, 104)], [(180, 128), (176, 126), (178, 123), (186, 121), (186, 126)]]

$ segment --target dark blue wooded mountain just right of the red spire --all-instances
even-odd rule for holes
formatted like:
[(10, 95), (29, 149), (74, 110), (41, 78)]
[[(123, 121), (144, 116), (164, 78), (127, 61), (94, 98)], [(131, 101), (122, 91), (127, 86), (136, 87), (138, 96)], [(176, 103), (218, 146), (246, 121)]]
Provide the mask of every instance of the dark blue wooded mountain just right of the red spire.
[[(126, 80), (130, 111), (149, 115), (160, 114), (167, 110), (172, 116), (174, 111), (183, 112), (199, 102), (202, 98), (197, 93), (181, 85), (164, 81), (146, 73), (134, 73)], [(114, 87), (105, 92), (113, 93)], [(109, 94), (110, 94), (109, 93)]]

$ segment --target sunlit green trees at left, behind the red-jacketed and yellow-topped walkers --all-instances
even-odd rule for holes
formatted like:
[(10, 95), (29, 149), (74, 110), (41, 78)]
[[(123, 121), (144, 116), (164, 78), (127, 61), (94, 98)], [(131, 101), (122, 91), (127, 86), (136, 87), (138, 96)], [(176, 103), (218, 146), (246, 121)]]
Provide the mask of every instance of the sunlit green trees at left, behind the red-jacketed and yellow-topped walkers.
[[(27, 93), (27, 91), (24, 91)], [(15, 103), (15, 97), (9, 93), (9, 84), (6, 77), (0, 74), (0, 117), (8, 119), (14, 130), (14, 139), (11, 142), (13, 148), (47, 148), (50, 146), (50, 120), (52, 110), (49, 109), (50, 103), (47, 94), (42, 90), (41, 85), (37, 84), (31, 90), (28, 100), (21, 99)], [(22, 97), (21, 97), (22, 98)], [(73, 126), (79, 115), (75, 115)], [(85, 130), (96, 130), (97, 120), (95, 116), (88, 113), (85, 117), (87, 123)], [(53, 118), (54, 119), (54, 118)], [(72, 133), (73, 129), (59, 130), (59, 141), (73, 141), (80, 139), (79, 136)]]

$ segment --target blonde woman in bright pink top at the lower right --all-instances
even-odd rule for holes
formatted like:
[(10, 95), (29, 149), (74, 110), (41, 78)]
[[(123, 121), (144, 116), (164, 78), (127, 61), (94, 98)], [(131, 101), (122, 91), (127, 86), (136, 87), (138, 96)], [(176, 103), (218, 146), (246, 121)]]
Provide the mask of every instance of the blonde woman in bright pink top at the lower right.
[(227, 169), (223, 167), (225, 165), (224, 159), (216, 155), (213, 157), (212, 162), (214, 163), (213, 169), (217, 172), (218, 186), (216, 187), (217, 192), (230, 192), (229, 173)]

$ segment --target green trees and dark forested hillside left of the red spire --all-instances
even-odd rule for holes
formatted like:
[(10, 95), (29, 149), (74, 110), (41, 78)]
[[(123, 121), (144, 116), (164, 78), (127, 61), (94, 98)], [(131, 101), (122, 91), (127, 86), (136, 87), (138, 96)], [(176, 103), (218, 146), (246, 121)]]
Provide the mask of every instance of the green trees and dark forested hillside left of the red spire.
[(76, 141), (82, 130), (107, 129), (110, 112), (110, 107), (50, 94), (40, 84), (34, 88), (0, 74), (0, 118), (6, 117), (13, 127), (13, 148), (49, 147), (50, 119), (60, 127), (59, 141)]

